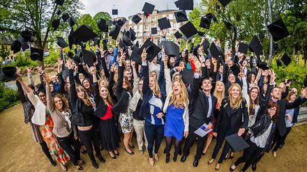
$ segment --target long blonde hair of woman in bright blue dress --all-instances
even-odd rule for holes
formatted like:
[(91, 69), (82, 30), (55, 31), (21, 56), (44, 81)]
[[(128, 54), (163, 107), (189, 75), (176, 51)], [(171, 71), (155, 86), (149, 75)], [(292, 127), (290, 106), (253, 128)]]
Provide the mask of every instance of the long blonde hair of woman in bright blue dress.
[(188, 93), (186, 91), (186, 86), (184, 85), (184, 82), (181, 81), (181, 79), (176, 79), (172, 81), (172, 86), (175, 82), (179, 82), (181, 86), (181, 92), (179, 93), (179, 97), (177, 97), (172, 91), (172, 95), (170, 96), (170, 102), (168, 103), (168, 107), (170, 107), (172, 104), (174, 104), (174, 109), (177, 108), (184, 108), (184, 106), (188, 106)]

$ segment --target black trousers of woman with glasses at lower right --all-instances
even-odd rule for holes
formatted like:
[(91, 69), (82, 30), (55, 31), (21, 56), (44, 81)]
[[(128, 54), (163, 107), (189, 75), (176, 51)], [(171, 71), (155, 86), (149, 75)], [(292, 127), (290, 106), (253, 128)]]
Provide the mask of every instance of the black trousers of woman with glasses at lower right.
[(245, 162), (243, 169), (241, 171), (246, 171), (248, 167), (255, 162), (255, 159), (260, 156), (260, 153), (263, 152), (264, 148), (258, 147), (255, 143), (248, 140), (248, 144), (250, 147), (244, 149), (242, 157), (239, 157), (236, 162), (234, 162), (234, 166), (238, 166), (242, 162)]

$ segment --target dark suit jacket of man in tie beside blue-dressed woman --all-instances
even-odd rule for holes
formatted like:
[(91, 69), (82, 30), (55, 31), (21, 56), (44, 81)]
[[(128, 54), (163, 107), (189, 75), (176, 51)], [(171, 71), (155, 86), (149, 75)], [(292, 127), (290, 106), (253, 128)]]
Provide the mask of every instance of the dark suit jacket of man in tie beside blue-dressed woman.
[(193, 107), (191, 108), (192, 112), (189, 116), (189, 125), (195, 130), (197, 130), (204, 123), (214, 124), (214, 109), (216, 109), (216, 103), (218, 102), (218, 99), (211, 94), (211, 116), (207, 118), (209, 102), (207, 95), (204, 93), (204, 91), (200, 90), (200, 81), (200, 78), (194, 78), (191, 88)]

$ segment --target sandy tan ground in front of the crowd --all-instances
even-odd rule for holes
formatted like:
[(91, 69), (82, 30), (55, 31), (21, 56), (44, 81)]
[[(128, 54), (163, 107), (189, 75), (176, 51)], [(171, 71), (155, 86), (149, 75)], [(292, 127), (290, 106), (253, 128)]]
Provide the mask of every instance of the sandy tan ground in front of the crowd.
[[(0, 113), (0, 171), (61, 171), (60, 166), (51, 166), (47, 157), (43, 154), (40, 146), (33, 141), (29, 125), (24, 124), (22, 105), (19, 104)], [(133, 138), (133, 143), (137, 143)], [(200, 165), (193, 167), (193, 160), (196, 146), (194, 145), (185, 163), (172, 162), (165, 163), (163, 148), (165, 141), (159, 151), (159, 161), (151, 167), (148, 162), (148, 154), (140, 155), (135, 149), (135, 155), (119, 148), (119, 157), (111, 159), (106, 151), (101, 151), (106, 159), (105, 164), (98, 163), (99, 169), (93, 169), (89, 157), (82, 155), (87, 164), (84, 165), (84, 171), (214, 171), (215, 164), (207, 165), (215, 146), (215, 141), (211, 144), (207, 155), (200, 159)], [(271, 153), (264, 155), (262, 162), (257, 166), (257, 171), (307, 171), (307, 125), (293, 127), (288, 136), (283, 150), (278, 150), (278, 156), (274, 158)], [(230, 165), (241, 155), (236, 153), (234, 159), (228, 159), (223, 162), (220, 171), (229, 171)], [(218, 155), (219, 156), (219, 155)], [(77, 171), (72, 162), (68, 162), (68, 171)], [(242, 168), (240, 165), (237, 171)], [(249, 171), (251, 171), (249, 169)]]

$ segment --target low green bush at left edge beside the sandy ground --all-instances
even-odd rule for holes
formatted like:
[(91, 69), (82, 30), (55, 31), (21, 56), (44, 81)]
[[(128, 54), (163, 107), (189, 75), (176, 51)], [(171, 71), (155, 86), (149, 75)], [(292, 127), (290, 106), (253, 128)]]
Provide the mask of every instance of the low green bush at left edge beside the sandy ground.
[(20, 103), (17, 91), (4, 87), (2, 82), (0, 83), (0, 97), (0, 111), (4, 111)]

